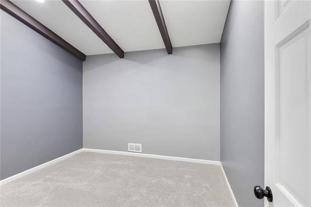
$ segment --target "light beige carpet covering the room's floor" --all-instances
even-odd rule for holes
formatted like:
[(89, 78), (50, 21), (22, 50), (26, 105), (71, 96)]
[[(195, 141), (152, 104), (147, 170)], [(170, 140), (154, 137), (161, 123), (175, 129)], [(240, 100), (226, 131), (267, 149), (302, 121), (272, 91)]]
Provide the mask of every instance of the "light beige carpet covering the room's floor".
[(82, 152), (7, 183), (1, 206), (234, 206), (221, 167)]

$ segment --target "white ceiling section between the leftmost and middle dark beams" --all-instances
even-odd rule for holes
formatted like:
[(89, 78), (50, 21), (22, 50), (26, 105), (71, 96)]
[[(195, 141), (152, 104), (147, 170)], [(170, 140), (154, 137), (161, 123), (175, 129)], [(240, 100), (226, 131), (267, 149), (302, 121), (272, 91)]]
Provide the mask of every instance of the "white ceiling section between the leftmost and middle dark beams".
[(113, 53), (61, 0), (11, 0), (86, 55)]

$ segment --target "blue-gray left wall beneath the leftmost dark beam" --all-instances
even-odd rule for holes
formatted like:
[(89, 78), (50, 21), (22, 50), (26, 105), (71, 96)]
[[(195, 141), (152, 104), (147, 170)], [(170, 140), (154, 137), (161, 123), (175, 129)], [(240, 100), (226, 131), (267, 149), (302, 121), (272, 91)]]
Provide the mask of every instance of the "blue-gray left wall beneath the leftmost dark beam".
[(0, 15), (4, 179), (82, 148), (82, 61)]

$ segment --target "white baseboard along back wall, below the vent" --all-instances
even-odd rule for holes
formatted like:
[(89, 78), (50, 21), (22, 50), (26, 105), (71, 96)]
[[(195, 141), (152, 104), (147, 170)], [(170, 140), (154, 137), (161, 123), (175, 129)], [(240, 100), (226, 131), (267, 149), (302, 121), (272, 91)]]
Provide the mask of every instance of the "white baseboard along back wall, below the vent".
[(220, 161), (205, 160), (205, 159), (192, 159), (192, 158), (176, 157), (176, 156), (152, 155), (152, 154), (131, 153), (131, 152), (121, 152), (121, 151), (111, 151), (111, 150), (96, 150), (96, 149), (88, 149), (88, 148), (83, 148), (83, 151), (93, 152), (93, 153), (130, 155), (130, 156), (148, 157), (148, 158), (156, 158), (156, 159), (194, 162), (194, 163), (202, 163), (202, 164), (210, 164), (210, 165), (221, 165)]

